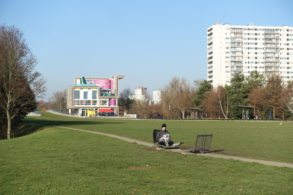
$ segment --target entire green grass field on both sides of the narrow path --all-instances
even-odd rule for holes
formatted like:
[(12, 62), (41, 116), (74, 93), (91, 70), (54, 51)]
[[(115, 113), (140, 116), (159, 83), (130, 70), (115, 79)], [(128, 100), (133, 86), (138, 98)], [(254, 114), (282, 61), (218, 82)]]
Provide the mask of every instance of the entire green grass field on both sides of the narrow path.
[[(160, 128), (163, 122), (172, 139), (183, 140), (183, 146), (192, 146), (195, 141), (192, 136), (196, 134), (213, 133), (212, 150), (292, 162), (290, 122), (279, 125), (280, 122), (80, 119), (46, 112), (38, 118), (25, 119), (27, 125), (42, 125), (42, 130), (0, 141), (0, 194), (291, 194), (293, 191), (291, 168), (156, 150), (104, 135), (48, 127), (100, 131), (151, 143), (152, 130)], [(30, 127), (36, 130), (38, 126)], [(242, 148), (245, 144), (257, 148), (258, 153), (246, 151)], [(279, 149), (274, 149), (277, 146)]]

